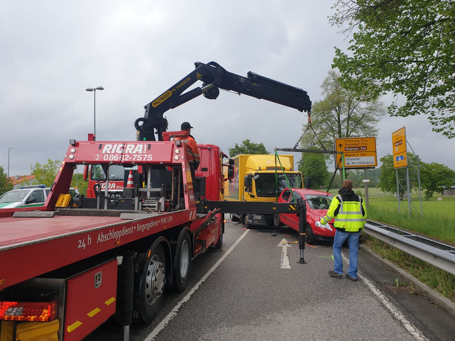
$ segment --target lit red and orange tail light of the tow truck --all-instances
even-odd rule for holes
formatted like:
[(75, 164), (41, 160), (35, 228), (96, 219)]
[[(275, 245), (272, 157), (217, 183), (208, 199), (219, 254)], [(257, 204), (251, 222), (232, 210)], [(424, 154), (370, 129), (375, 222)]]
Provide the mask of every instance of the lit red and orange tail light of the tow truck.
[(0, 301), (0, 320), (49, 322), (55, 320), (57, 316), (57, 300), (52, 302)]

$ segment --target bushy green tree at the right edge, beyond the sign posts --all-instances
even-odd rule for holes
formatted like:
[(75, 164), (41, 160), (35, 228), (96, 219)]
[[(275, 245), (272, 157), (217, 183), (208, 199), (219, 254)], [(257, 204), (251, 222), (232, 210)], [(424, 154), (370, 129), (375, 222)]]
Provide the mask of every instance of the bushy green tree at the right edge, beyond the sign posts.
[(455, 171), (440, 163), (422, 162), (420, 165), (420, 186), (429, 200), (434, 192), (442, 192), (444, 187), (455, 186)]

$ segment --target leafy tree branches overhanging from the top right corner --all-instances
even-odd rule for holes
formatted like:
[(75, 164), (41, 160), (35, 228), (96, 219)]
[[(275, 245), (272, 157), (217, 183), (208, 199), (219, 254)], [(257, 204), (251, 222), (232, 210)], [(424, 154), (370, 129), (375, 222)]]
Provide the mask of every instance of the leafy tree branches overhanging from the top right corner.
[(455, 1), (338, 0), (333, 8), (329, 21), (351, 37), (352, 56), (335, 47), (332, 65), (344, 83), (375, 80), (406, 98), (389, 105), (391, 116), (425, 113), (434, 131), (455, 137)]

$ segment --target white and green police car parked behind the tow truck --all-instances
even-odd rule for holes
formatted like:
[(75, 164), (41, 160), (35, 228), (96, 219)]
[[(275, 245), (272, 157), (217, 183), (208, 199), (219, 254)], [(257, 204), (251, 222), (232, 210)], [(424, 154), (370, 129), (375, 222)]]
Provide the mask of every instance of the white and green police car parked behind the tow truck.
[[(46, 185), (22, 186), (0, 196), (0, 209), (44, 206), (50, 192), (51, 188)], [(79, 191), (77, 188), (70, 188), (69, 194), (74, 199)]]

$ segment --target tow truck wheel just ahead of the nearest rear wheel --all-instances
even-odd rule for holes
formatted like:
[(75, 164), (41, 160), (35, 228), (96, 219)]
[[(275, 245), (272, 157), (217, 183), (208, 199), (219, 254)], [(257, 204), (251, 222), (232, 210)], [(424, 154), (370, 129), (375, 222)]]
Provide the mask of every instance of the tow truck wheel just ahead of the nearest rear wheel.
[(182, 292), (188, 285), (191, 271), (191, 237), (184, 232), (177, 242), (177, 249), (174, 261), (177, 267), (174, 271), (174, 288)]

